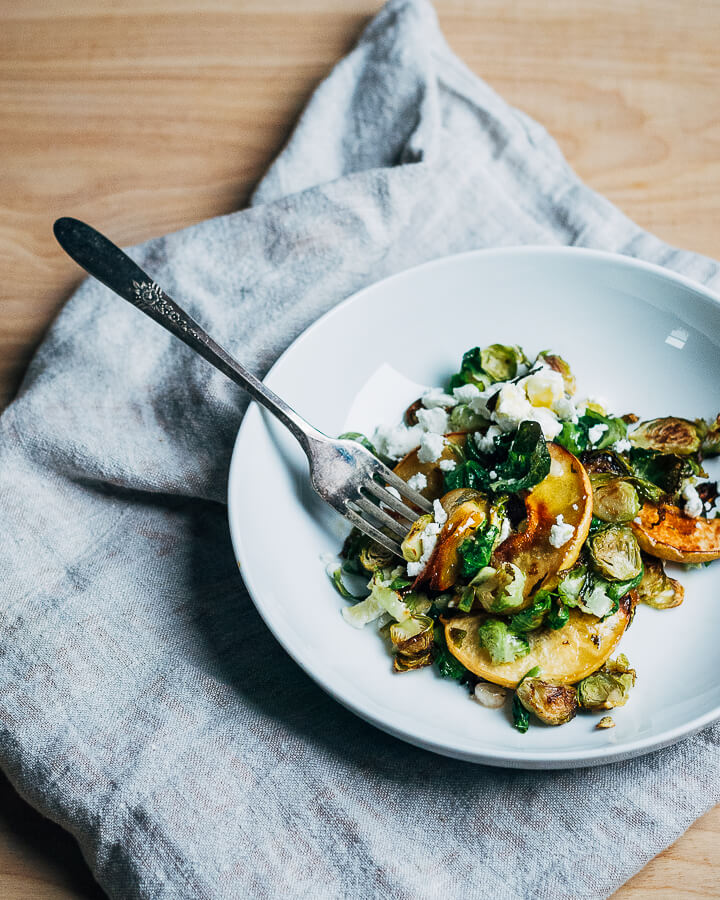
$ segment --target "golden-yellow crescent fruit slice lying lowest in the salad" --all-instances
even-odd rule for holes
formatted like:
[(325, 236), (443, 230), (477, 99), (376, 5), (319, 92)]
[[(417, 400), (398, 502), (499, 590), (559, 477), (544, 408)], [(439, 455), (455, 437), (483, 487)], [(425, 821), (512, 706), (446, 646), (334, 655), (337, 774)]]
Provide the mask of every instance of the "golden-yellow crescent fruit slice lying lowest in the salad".
[(466, 669), (480, 678), (516, 687), (533, 666), (552, 684), (575, 684), (608, 659), (623, 636), (632, 615), (634, 592), (620, 601), (617, 612), (606, 619), (570, 610), (570, 618), (559, 631), (541, 628), (526, 635), (530, 653), (514, 662), (494, 663), (480, 645), (478, 628), (486, 615), (455, 616), (445, 622), (448, 650)]

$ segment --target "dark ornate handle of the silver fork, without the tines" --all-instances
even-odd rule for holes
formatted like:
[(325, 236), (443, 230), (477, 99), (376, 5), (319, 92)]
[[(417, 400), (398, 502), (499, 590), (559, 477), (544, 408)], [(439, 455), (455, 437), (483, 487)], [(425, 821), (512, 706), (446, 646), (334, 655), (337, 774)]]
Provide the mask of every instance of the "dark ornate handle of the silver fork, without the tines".
[(58, 219), (53, 230), (60, 246), (79, 266), (244, 388), (253, 400), (290, 429), (303, 448), (307, 449), (312, 441), (327, 440), (322, 432), (233, 359), (137, 263), (99, 231), (68, 217)]

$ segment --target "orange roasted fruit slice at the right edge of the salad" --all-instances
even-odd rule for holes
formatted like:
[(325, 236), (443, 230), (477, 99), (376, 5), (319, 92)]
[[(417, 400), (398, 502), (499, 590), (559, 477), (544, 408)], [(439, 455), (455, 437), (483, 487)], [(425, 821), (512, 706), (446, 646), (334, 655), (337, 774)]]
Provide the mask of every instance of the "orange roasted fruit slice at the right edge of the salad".
[(694, 519), (669, 503), (644, 503), (629, 524), (640, 548), (658, 559), (680, 563), (720, 559), (720, 519)]

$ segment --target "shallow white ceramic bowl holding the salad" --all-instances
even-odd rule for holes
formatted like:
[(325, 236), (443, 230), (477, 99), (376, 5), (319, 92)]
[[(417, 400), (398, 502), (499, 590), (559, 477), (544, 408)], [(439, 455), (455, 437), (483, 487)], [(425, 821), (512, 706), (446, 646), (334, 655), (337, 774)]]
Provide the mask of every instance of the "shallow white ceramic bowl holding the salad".
[[(443, 384), (466, 349), (496, 341), (528, 354), (553, 348), (582, 394), (619, 413), (711, 417), (720, 407), (720, 299), (658, 267), (567, 248), (466, 253), (379, 282), (309, 328), (266, 381), (333, 435), (383, 365)], [(399, 420), (406, 398), (394, 390), (379, 420)], [(523, 735), (506, 711), (479, 706), (432, 669), (393, 674), (376, 629), (345, 623), (321, 562), (337, 553), (345, 522), (315, 499), (293, 438), (255, 405), (233, 454), (229, 516), (245, 583), (288, 653), (353, 712), (413, 744), (492, 765), (569, 768), (646, 753), (720, 718), (720, 563), (681, 573), (681, 607), (638, 609), (621, 643), (638, 682), (613, 712), (614, 729), (579, 715)]]

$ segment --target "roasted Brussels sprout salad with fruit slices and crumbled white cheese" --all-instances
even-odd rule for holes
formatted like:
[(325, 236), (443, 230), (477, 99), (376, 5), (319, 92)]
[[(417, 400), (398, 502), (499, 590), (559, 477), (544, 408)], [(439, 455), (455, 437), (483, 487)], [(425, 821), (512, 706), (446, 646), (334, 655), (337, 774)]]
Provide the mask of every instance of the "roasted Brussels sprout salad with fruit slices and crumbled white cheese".
[[(720, 498), (705, 460), (714, 421), (640, 421), (578, 394), (568, 363), (518, 346), (474, 347), (445, 387), (362, 442), (433, 502), (404, 560), (353, 530), (328, 574), (376, 623), (396, 672), (433, 666), (515, 727), (562, 725), (627, 702), (618, 652), (635, 607), (683, 602), (666, 563), (720, 558)], [(615, 655), (617, 653), (617, 655)], [(531, 719), (531, 716), (533, 717)]]

